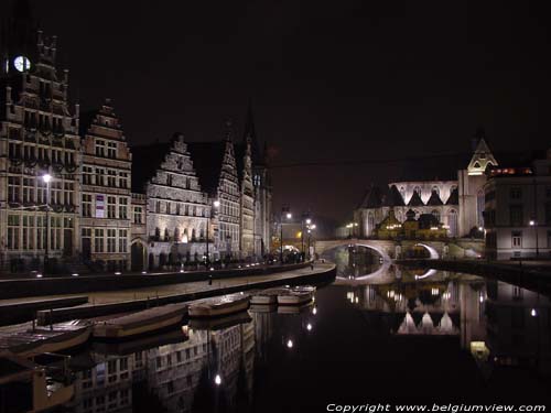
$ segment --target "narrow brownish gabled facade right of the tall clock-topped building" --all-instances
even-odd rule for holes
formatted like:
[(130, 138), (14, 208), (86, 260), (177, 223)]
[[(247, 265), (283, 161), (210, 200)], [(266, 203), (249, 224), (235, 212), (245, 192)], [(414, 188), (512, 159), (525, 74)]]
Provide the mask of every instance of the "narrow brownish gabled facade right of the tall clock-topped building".
[[(88, 118), (88, 121), (85, 119)], [(130, 269), (132, 155), (110, 99), (83, 117), (80, 248), (107, 270)]]

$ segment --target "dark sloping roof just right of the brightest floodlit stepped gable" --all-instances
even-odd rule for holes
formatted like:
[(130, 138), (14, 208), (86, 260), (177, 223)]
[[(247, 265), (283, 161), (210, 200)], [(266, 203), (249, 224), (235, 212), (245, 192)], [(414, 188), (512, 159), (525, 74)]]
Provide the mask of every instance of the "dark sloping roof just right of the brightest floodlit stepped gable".
[(187, 143), (201, 188), (210, 195), (218, 189), (225, 149), (226, 142), (224, 141)]

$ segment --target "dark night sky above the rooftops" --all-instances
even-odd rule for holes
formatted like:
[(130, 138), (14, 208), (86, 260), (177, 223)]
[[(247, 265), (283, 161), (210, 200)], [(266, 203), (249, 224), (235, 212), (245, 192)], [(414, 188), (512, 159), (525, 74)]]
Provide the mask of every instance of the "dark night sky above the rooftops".
[[(274, 164), (547, 148), (548, 14), (465, 1), (34, 1), (84, 109), (132, 143), (212, 140), (252, 99)], [(498, 160), (499, 161), (499, 160)], [(420, 161), (430, 162), (430, 161)], [(274, 209), (342, 218), (385, 164), (273, 171)]]

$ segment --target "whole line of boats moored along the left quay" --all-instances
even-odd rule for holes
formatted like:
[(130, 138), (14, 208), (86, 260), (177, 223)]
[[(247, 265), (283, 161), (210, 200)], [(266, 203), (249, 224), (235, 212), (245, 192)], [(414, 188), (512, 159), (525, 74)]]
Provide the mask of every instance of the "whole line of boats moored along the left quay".
[[(23, 380), (33, 394), (23, 410), (48, 410), (71, 400), (75, 389), (66, 377), (55, 379), (47, 367), (36, 363), (43, 355), (63, 354), (86, 344), (90, 337), (97, 339), (94, 344), (123, 346), (133, 343), (134, 338), (154, 339), (159, 332), (174, 332), (186, 318), (188, 326), (197, 328), (241, 323), (244, 317), (250, 319), (247, 309), (251, 306), (273, 308), (279, 305), (282, 312), (292, 312), (310, 303), (314, 293), (313, 286), (285, 286), (169, 304), (109, 319), (72, 320), (40, 327), (33, 324), (32, 328), (21, 326), (4, 330), (0, 333), (0, 389), (9, 390)], [(179, 329), (180, 334), (185, 328)]]

